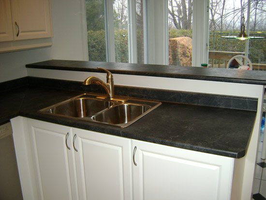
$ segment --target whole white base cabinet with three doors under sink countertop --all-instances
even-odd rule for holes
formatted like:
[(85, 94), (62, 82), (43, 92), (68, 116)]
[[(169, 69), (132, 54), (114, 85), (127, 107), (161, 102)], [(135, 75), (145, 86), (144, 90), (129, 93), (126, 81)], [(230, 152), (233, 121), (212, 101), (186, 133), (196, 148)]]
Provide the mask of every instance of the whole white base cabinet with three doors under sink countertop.
[[(12, 126), (24, 200), (231, 198), (234, 158), (22, 117)], [(23, 153), (27, 142), (16, 141), (27, 139)]]

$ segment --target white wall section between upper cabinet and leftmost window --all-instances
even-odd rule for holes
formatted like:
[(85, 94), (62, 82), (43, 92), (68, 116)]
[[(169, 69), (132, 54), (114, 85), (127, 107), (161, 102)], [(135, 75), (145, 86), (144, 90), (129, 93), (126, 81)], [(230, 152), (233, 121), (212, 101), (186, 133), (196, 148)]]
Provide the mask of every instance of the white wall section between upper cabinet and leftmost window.
[[(52, 59), (88, 61), (85, 0), (52, 0)], [(86, 15), (86, 14), (85, 14)]]

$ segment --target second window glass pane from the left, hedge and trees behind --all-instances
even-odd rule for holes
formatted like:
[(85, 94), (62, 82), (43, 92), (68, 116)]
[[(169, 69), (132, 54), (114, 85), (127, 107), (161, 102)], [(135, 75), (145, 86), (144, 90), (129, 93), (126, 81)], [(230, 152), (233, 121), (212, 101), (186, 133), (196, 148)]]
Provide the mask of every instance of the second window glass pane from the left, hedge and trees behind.
[(128, 1), (114, 0), (113, 6), (116, 62), (129, 62)]

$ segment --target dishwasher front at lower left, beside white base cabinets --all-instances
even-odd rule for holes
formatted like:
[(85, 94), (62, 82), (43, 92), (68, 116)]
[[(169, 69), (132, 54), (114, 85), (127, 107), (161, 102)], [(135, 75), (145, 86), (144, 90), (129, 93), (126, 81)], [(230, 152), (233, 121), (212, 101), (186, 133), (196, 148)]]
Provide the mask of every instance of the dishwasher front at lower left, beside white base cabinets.
[(0, 200), (23, 200), (10, 122), (0, 124)]

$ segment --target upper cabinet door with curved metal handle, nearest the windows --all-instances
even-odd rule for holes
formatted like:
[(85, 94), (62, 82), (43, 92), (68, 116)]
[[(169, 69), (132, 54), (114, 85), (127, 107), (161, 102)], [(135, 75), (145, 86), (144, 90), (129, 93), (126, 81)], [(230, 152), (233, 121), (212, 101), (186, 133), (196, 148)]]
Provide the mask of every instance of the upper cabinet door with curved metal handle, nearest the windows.
[(11, 0), (15, 40), (52, 36), (50, 0)]

